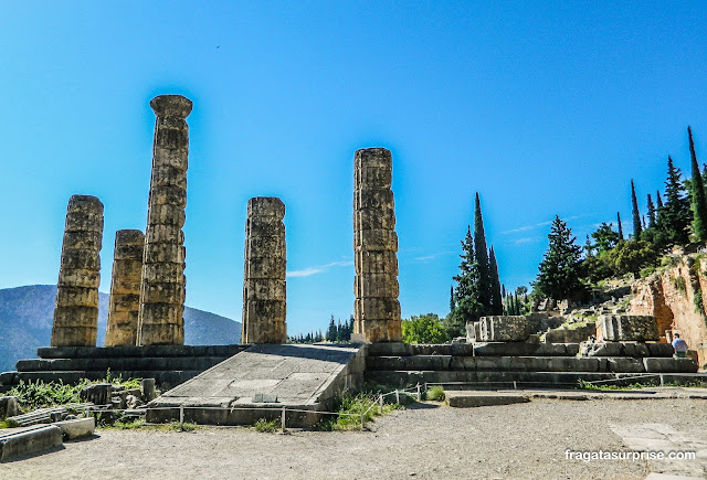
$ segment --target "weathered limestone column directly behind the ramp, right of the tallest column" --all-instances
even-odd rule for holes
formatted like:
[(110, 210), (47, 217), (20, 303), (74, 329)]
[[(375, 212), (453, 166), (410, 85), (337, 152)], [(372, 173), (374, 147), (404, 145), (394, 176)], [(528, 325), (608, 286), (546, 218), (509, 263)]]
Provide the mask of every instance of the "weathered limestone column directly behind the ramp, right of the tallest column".
[(285, 204), (276, 196), (247, 202), (241, 343), (287, 341)]

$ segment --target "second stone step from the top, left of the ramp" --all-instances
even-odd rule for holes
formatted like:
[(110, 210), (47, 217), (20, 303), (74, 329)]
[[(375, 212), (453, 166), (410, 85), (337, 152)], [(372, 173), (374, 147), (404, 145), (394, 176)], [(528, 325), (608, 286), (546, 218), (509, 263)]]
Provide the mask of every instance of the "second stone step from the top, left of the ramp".
[[(18, 372), (49, 371), (204, 371), (221, 362), (223, 356), (131, 356), (85, 359), (29, 359), (17, 363)], [(140, 375), (143, 376), (143, 375)]]

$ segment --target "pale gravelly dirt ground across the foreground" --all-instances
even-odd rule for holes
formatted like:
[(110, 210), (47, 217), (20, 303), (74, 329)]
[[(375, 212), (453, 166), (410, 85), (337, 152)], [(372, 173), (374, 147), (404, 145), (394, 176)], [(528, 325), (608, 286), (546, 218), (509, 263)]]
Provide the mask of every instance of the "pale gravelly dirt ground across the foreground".
[[(629, 450), (611, 425), (656, 423), (707, 455), (707, 401), (537, 399), (478, 408), (430, 403), (379, 417), (368, 431), (98, 429), (63, 449), (0, 463), (0, 478), (644, 479), (656, 471), (646, 460), (584, 462), (566, 459), (566, 450)], [(707, 465), (706, 458), (684, 461)]]

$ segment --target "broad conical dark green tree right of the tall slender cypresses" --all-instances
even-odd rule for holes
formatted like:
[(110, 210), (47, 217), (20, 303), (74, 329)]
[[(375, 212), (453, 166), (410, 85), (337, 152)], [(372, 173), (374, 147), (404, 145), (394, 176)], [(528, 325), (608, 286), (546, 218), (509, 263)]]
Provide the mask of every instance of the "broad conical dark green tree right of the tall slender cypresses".
[(580, 282), (582, 248), (574, 244), (577, 237), (572, 236), (570, 228), (557, 215), (548, 241), (548, 249), (540, 263), (540, 271), (534, 288), (546, 297), (562, 300), (582, 288)]

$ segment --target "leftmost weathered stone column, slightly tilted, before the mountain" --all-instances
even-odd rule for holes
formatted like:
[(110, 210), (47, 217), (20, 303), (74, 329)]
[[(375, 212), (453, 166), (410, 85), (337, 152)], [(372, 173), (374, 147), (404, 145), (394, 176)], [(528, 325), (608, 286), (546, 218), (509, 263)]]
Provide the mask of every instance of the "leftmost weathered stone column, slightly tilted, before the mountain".
[(103, 203), (73, 195), (66, 210), (52, 346), (96, 346)]

